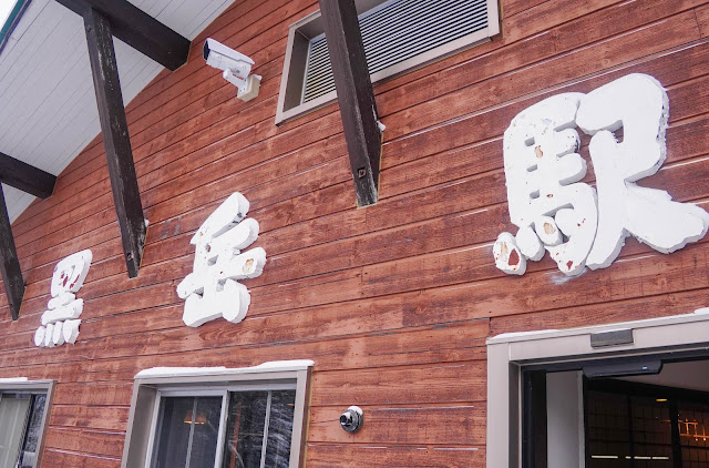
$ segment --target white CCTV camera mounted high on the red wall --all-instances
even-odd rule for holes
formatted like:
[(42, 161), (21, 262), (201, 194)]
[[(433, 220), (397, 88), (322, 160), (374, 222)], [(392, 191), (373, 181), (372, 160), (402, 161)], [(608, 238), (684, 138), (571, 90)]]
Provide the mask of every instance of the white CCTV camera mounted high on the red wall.
[(224, 70), (222, 77), (238, 88), (236, 96), (242, 101), (250, 101), (258, 95), (261, 77), (250, 74), (254, 61), (228, 47), (207, 39), (204, 43), (204, 60), (215, 69)]

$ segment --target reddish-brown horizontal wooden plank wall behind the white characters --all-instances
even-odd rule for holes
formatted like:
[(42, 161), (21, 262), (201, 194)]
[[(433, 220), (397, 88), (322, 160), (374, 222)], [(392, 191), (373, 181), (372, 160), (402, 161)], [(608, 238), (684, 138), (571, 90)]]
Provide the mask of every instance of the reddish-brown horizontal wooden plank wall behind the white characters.
[[(380, 202), (362, 210), (336, 105), (274, 125), (288, 26), (317, 1), (236, 1), (185, 67), (140, 93), (127, 106), (151, 222), (140, 276), (125, 272), (100, 139), (13, 226), (28, 288), (17, 323), (0, 309), (0, 376), (58, 380), (43, 465), (117, 467), (141, 369), (308, 358), (308, 467), (484, 467), (487, 336), (708, 305), (706, 242), (662, 255), (629, 241), (609, 268), (575, 279), (548, 258), (506, 276), (492, 242), (514, 227), (501, 141), (512, 118), (630, 72), (660, 80), (671, 103), (668, 160), (641, 183), (709, 200), (709, 2), (502, 8), (492, 42), (374, 87), (387, 125)], [(255, 59), (257, 100), (234, 99), (205, 65), (207, 37)], [(242, 324), (188, 328), (175, 293), (192, 267), (188, 241), (235, 191), (251, 202), (268, 264), (244, 282), (253, 301)], [(35, 348), (52, 269), (83, 248), (94, 263), (79, 342)], [(354, 404), (366, 425), (349, 435), (337, 417)]]

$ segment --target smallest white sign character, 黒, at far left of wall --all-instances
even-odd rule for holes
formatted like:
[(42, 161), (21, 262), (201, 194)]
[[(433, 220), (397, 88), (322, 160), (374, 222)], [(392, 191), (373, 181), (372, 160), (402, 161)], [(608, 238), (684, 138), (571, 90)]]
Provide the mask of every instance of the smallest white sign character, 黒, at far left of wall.
[(34, 333), (34, 344), (40, 347), (54, 347), (76, 342), (79, 336), (79, 316), (84, 309), (84, 299), (78, 299), (74, 293), (84, 284), (91, 267), (91, 251), (81, 251), (56, 264), (52, 275), (52, 298), (47, 303), (49, 311), (42, 314), (42, 326)]

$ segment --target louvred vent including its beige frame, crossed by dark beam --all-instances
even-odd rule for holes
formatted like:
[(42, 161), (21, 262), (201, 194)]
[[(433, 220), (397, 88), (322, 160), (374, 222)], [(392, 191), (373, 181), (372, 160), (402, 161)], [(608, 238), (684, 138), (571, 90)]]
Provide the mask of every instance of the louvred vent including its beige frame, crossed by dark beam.
[[(356, 0), (372, 83), (500, 32), (496, 0)], [(320, 12), (290, 27), (276, 123), (335, 101)]]

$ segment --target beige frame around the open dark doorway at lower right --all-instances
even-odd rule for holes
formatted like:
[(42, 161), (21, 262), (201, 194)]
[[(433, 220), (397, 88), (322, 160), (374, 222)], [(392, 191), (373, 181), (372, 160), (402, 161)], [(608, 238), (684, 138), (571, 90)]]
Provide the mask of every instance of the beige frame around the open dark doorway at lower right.
[[(573, 313), (573, 312), (569, 312)], [(631, 342), (595, 345), (630, 330)], [(525, 373), (577, 370), (658, 359), (707, 357), (709, 309), (646, 321), (563, 330), (510, 333), (487, 339), (487, 466), (520, 468), (523, 460)]]

